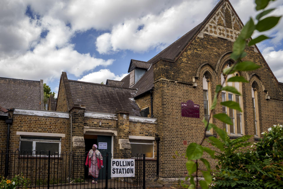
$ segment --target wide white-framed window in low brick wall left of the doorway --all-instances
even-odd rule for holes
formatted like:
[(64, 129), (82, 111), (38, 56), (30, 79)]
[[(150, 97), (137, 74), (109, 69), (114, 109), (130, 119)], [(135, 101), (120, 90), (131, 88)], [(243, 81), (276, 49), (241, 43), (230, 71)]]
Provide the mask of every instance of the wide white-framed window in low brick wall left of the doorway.
[(20, 151), (49, 151), (50, 154), (61, 153), (61, 137), (48, 136), (21, 136), (20, 137)]

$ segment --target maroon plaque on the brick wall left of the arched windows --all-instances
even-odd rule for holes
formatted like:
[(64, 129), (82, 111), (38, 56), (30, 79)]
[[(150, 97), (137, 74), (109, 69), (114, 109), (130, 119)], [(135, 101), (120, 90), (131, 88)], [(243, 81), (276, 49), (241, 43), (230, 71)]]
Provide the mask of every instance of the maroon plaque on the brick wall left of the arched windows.
[(192, 100), (181, 103), (182, 117), (200, 118), (200, 105), (195, 104)]

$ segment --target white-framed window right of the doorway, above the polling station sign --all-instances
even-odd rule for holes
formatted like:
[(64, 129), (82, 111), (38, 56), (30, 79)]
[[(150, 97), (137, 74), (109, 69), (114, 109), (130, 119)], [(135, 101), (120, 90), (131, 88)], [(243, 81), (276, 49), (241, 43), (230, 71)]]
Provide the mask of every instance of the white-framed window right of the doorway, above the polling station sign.
[(146, 158), (153, 158), (153, 140), (129, 139), (132, 154), (145, 154)]

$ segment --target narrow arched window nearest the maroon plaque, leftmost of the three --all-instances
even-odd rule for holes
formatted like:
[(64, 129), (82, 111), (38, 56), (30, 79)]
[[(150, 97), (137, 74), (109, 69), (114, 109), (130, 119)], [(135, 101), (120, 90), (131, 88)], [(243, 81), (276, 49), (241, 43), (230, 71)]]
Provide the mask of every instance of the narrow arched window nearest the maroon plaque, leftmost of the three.
[(209, 119), (209, 106), (211, 103), (211, 90), (210, 90), (210, 80), (209, 75), (203, 75), (203, 108), (204, 117), (207, 122), (211, 122)]

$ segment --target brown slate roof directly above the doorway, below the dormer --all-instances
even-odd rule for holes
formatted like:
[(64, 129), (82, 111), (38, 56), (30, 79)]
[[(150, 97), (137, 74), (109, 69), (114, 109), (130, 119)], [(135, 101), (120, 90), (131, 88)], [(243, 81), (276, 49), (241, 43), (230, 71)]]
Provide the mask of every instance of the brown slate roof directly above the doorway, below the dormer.
[(85, 111), (115, 114), (120, 110), (141, 116), (139, 106), (133, 99), (134, 89), (74, 80), (68, 80), (68, 83), (73, 103), (85, 105)]

